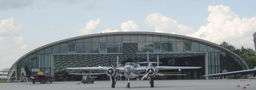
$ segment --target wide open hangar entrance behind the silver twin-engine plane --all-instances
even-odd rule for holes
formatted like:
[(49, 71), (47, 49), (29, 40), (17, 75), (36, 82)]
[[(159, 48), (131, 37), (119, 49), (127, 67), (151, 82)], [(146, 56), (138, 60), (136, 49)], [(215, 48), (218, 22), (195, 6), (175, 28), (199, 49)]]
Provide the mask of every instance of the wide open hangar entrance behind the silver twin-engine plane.
[[(81, 80), (82, 76), (69, 75), (69, 73), (90, 73), (83, 70), (66, 70), (71, 67), (98, 67), (117, 65), (117, 56), (119, 61), (125, 62), (145, 62), (147, 61), (146, 53), (137, 53), (134, 56), (129, 56), (124, 53), (120, 54), (68, 54), (68, 55), (53, 55), (53, 65), (55, 76), (60, 77), (59, 80)], [(206, 74), (206, 53), (150, 53), (150, 61), (157, 62), (159, 56), (159, 66), (175, 66), (175, 67), (202, 67), (200, 69), (190, 70), (160, 70), (160, 73), (165, 74), (187, 74), (173, 76), (156, 76), (155, 79), (180, 80), (180, 79), (203, 79), (201, 76)], [(129, 60), (130, 59), (130, 60)], [(132, 60), (132, 61), (131, 61)], [(146, 64), (141, 64), (146, 65)], [(157, 66), (157, 64), (154, 64)], [(105, 73), (103, 70), (93, 70), (91, 72)], [(142, 76), (139, 77), (141, 79)], [(125, 79), (124, 77), (122, 78)], [(106, 74), (97, 75), (96, 80), (109, 80)], [(134, 79), (136, 80), (136, 79)]]

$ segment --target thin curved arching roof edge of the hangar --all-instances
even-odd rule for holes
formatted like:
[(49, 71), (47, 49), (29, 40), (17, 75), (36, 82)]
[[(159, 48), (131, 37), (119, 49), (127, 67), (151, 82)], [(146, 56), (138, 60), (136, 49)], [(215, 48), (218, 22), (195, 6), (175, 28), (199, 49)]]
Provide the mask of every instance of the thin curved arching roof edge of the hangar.
[[(198, 38), (193, 38), (193, 37), (187, 37), (187, 36), (184, 36), (184, 35), (175, 35), (175, 34), (166, 34), (166, 33), (157, 33), (157, 32), (110, 32), (110, 33), (102, 33), (102, 34), (91, 34), (91, 35), (83, 35), (83, 36), (79, 36), (79, 37), (73, 37), (73, 38), (68, 38), (66, 40), (60, 40), (60, 41), (56, 41), (54, 43), (50, 43), (50, 44), (46, 44), (45, 46), (41, 46), (41, 47), (38, 47), (37, 49), (34, 49), (32, 50), (31, 52), (28, 52), (26, 53), (26, 55), (23, 55), (21, 58), (19, 58), (11, 68), (14, 67), (14, 65), (16, 65), (17, 62), (19, 62), (21, 59), (25, 58), (26, 56), (28, 56), (29, 54), (31, 53), (35, 53), (37, 52), (37, 50), (41, 50), (41, 49), (44, 49), (44, 47), (48, 47), (48, 46), (52, 46), (52, 45), (55, 45), (55, 44), (58, 44), (58, 43), (67, 43), (67, 41), (75, 41), (75, 40), (81, 40), (82, 38), (86, 38), (86, 37), (96, 37), (96, 36), (101, 36), (101, 35), (117, 35), (117, 34), (123, 34), (124, 35), (140, 35), (140, 34), (144, 34), (144, 35), (151, 35), (151, 36), (160, 36), (160, 37), (176, 37), (177, 40), (180, 38), (181, 40), (183, 40), (184, 38), (184, 41), (199, 41), (200, 43), (204, 43), (204, 44), (208, 44), (210, 46), (213, 46), (215, 50), (218, 50), (219, 52), (230, 52), (232, 53), (233, 55), (235, 55), (237, 58), (239, 58), (240, 60), (242, 60), (243, 64), (246, 65), (246, 68), (248, 69), (248, 65), (246, 64), (245, 61), (243, 61), (242, 58), (240, 58), (239, 55), (236, 55), (236, 53), (232, 52), (231, 50), (228, 50), (226, 49), (225, 47), (222, 47), (222, 46), (219, 46), (218, 44), (215, 44), (215, 43), (212, 43), (210, 41), (206, 41), (206, 40), (201, 40), (201, 39), (198, 39)], [(152, 37), (153, 38), (153, 37)], [(138, 41), (137, 41), (138, 42)], [(124, 42), (123, 42), (124, 43)], [(129, 43), (129, 42), (128, 42)], [(177, 53), (177, 52), (175, 52)], [(11, 69), (10, 69), (11, 70)]]

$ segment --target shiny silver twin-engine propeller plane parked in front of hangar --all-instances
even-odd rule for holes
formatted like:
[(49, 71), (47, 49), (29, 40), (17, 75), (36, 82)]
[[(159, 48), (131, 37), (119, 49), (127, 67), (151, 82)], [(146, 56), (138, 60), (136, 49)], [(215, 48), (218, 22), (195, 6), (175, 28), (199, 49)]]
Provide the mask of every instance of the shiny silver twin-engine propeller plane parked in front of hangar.
[(116, 84), (116, 77), (118, 73), (124, 73), (124, 76), (127, 77), (127, 88), (130, 88), (130, 78), (138, 77), (141, 72), (145, 72), (146, 74), (141, 78), (141, 80), (147, 78), (150, 82), (151, 88), (154, 87), (154, 80), (152, 79), (155, 76), (163, 76), (163, 74), (158, 73), (159, 70), (174, 70), (178, 69), (197, 69), (201, 67), (165, 67), (165, 66), (158, 66), (158, 58), (157, 58), (157, 67), (152, 65), (153, 62), (150, 62), (148, 58), (147, 52), (147, 63), (148, 66), (140, 66), (139, 64), (133, 62), (127, 62), (125, 67), (120, 67), (121, 64), (118, 64), (118, 57), (117, 57), (117, 66), (114, 67), (110, 65), (110, 67), (80, 67), (80, 68), (66, 68), (68, 70), (106, 70), (107, 76), (110, 77), (110, 81), (112, 83), (111, 87), (115, 88)]

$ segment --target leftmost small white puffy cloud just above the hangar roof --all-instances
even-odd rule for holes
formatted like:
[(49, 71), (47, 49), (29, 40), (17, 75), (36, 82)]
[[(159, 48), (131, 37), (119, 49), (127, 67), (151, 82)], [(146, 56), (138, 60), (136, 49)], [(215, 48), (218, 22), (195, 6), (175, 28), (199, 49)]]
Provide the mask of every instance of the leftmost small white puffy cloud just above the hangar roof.
[(99, 29), (100, 25), (100, 19), (95, 20), (90, 20), (90, 22), (86, 23), (85, 28), (78, 29), (78, 34), (85, 35), (85, 34), (90, 34), (92, 31), (95, 31)]

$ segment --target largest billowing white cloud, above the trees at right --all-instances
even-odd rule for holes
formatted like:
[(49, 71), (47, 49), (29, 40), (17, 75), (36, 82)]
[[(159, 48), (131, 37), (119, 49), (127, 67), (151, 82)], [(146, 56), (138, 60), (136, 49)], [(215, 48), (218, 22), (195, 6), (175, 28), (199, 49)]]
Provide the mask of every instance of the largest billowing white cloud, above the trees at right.
[(256, 31), (256, 16), (248, 19), (240, 17), (224, 5), (209, 6), (209, 17), (206, 26), (201, 26), (195, 33), (187, 36), (201, 38), (220, 44), (227, 41), (240, 48), (241, 46), (252, 47), (254, 49), (252, 34)]

